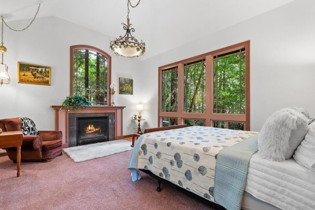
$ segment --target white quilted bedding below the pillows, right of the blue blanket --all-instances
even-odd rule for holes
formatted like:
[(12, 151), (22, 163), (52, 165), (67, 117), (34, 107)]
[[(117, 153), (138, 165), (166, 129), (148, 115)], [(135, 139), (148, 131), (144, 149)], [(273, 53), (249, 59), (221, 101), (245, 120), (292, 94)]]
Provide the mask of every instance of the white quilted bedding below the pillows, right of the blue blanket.
[(315, 172), (293, 158), (251, 158), (245, 191), (283, 210), (315, 210)]

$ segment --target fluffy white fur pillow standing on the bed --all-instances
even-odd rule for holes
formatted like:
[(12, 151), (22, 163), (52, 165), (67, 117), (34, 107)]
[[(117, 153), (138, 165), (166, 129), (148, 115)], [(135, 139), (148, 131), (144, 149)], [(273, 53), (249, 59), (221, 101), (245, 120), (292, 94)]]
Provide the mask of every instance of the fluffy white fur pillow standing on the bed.
[(307, 117), (295, 107), (274, 112), (258, 134), (258, 155), (273, 161), (292, 157), (308, 131), (307, 122)]

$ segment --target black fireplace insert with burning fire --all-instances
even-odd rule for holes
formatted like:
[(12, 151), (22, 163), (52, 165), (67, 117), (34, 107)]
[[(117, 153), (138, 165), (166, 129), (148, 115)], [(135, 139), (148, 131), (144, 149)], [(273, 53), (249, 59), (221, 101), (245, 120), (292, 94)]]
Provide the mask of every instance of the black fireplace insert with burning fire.
[(109, 140), (108, 116), (77, 117), (76, 145), (92, 144)]

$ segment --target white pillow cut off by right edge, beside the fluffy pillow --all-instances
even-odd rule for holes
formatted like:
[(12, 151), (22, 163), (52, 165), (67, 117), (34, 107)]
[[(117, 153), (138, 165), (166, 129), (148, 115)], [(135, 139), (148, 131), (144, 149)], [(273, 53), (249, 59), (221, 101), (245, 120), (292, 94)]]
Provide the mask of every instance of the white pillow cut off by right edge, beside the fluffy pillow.
[(315, 123), (309, 125), (309, 131), (296, 148), (293, 158), (300, 165), (315, 171)]

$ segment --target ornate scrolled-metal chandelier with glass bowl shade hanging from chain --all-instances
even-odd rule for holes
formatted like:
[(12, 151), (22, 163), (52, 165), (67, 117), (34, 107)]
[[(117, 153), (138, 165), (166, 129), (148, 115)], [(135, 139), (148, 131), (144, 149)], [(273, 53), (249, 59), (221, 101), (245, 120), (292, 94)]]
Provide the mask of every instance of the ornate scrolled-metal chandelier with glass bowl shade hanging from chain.
[[(129, 22), (129, 3), (130, 0), (127, 0), (127, 24), (122, 23), (124, 25), (124, 30), (126, 30), (125, 36), (119, 36), (115, 41), (110, 41), (110, 48), (114, 51), (115, 54), (122, 57), (139, 57), (144, 54), (146, 51), (145, 43), (141, 40), (141, 43), (131, 35), (131, 32), (134, 32), (134, 28), (132, 28), (132, 24)], [(140, 3), (140, 0), (135, 6), (136, 7)]]

